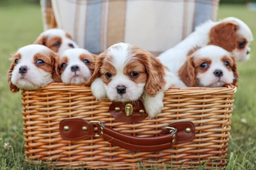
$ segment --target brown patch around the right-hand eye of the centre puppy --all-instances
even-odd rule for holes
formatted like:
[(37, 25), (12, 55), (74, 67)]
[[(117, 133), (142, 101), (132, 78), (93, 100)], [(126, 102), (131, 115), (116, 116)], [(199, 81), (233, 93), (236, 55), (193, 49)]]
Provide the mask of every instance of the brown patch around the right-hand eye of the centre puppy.
[[(139, 73), (139, 75), (132, 77), (132, 72)], [(126, 64), (124, 74), (135, 83), (146, 83), (148, 77), (145, 65), (136, 56)]]

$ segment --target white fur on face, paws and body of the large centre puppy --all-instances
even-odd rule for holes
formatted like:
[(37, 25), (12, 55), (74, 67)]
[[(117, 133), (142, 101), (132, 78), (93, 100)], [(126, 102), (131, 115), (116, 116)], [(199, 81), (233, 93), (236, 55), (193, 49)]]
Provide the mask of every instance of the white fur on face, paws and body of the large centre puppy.
[[(161, 109), (164, 106), (164, 91), (175, 84), (174, 76), (172, 78), (173, 74), (168, 73), (168, 76), (165, 77), (167, 84), (164, 87), (164, 91), (157, 93), (155, 97), (148, 96), (146, 93), (144, 93), (144, 86), (146, 83), (137, 84), (124, 74), (126, 63), (131, 61), (134, 55), (130, 51), (131, 46), (132, 45), (130, 44), (118, 43), (108, 49), (107, 55), (111, 55), (113, 57), (112, 61), (110, 62), (112, 66), (115, 67), (116, 75), (111, 78), (109, 84), (104, 84), (101, 77), (95, 79), (91, 84), (92, 94), (97, 99), (107, 96), (110, 100), (119, 102), (134, 101), (143, 95), (146, 112), (148, 115), (150, 115), (150, 117), (155, 117), (161, 112)], [(116, 90), (117, 86), (126, 86), (126, 93), (119, 95)]]

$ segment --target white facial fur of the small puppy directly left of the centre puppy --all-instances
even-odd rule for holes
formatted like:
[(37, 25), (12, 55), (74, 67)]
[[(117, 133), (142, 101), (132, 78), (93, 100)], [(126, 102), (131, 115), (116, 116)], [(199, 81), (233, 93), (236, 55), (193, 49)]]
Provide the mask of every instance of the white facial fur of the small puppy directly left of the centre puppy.
[[(61, 74), (61, 81), (65, 84), (85, 84), (85, 82), (90, 78), (92, 75), (88, 66), (79, 59), (81, 54), (89, 54), (91, 53), (85, 49), (68, 49), (64, 51), (63, 56), (68, 58), (68, 63), (65, 70)], [(92, 62), (92, 61), (90, 61)], [(76, 73), (71, 71), (71, 66), (78, 65), (79, 71)]]

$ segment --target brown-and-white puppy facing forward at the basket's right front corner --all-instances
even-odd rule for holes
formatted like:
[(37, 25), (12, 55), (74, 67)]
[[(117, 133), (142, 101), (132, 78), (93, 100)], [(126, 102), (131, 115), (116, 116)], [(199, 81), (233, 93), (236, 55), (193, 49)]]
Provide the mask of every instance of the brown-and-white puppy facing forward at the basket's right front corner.
[(236, 59), (219, 46), (208, 45), (196, 50), (180, 68), (177, 86), (222, 87), (237, 85)]

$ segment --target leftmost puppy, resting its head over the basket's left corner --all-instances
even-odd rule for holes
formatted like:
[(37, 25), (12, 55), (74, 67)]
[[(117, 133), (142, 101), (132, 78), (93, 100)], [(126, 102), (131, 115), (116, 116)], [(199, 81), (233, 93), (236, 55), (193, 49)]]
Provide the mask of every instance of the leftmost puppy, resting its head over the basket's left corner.
[(12, 92), (36, 90), (52, 82), (60, 82), (57, 53), (46, 46), (32, 44), (20, 48), (13, 56), (8, 73)]

